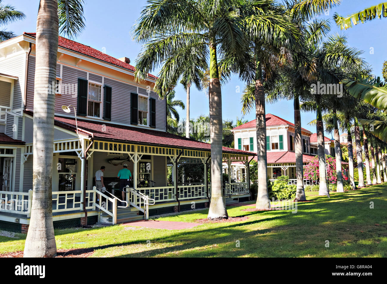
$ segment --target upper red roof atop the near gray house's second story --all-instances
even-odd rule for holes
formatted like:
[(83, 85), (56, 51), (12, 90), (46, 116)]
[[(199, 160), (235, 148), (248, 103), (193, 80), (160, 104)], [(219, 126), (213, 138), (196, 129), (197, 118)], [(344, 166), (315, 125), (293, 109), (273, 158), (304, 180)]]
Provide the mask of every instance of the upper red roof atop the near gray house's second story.
[[(24, 32), (23, 34), (31, 37), (36, 38), (36, 33), (35, 32)], [(99, 51), (97, 49), (91, 48), (90, 46), (77, 43), (76, 41), (72, 41), (70, 39), (67, 39), (65, 37), (59, 37), (59, 42), (58, 45), (62, 48), (70, 49), (72, 51), (75, 51), (77, 53), (84, 54), (86, 56), (90, 56), (92, 58), (96, 58), (98, 60), (125, 68), (130, 71), (136, 71), (136, 68), (133, 65), (130, 65), (128, 63), (125, 63), (121, 60), (118, 60), (117, 58), (114, 58), (106, 53), (103, 53), (102, 51)], [(152, 74), (148, 74), (148, 76), (152, 79), (157, 79), (156, 76)]]

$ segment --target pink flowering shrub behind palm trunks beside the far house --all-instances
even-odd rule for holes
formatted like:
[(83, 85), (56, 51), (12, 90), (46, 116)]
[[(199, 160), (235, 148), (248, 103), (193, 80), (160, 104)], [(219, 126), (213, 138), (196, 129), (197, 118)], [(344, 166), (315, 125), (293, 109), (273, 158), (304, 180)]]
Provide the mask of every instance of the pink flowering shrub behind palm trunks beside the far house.
[[(337, 183), (336, 174), (336, 159), (330, 155), (325, 155), (325, 164), (327, 167), (327, 179), (330, 184)], [(341, 174), (343, 169), (341, 168)], [(315, 156), (309, 163), (304, 167), (304, 179), (318, 181), (319, 175), (319, 156)], [(348, 177), (342, 175), (343, 180), (348, 180)]]

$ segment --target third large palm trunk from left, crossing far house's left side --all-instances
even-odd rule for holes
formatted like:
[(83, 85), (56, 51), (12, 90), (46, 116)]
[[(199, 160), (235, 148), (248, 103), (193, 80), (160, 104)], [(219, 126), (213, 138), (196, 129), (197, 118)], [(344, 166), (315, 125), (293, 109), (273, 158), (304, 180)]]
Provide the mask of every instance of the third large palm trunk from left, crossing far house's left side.
[(267, 189), (265, 89), (262, 80), (261, 64), (257, 53), (255, 65), (257, 68), (255, 74), (255, 126), (258, 160), (258, 194), (255, 207), (257, 209), (270, 209), (269, 191)]

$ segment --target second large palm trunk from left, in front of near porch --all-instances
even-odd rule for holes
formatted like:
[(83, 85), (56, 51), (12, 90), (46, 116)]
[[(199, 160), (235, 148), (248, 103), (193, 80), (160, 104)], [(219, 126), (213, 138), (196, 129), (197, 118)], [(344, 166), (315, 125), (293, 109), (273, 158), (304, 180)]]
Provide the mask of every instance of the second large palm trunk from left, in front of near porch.
[[(215, 42), (215, 41), (213, 41)], [(210, 135), (211, 135), (211, 203), (208, 219), (228, 218), (223, 199), (222, 180), (222, 93), (217, 67), (216, 46), (210, 44)]]

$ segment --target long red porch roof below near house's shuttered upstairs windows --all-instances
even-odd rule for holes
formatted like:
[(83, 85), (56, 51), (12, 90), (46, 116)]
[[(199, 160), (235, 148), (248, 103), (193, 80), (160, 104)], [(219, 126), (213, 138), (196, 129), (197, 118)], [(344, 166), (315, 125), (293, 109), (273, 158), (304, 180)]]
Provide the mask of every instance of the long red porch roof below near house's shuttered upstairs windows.
[[(31, 111), (26, 110), (24, 112), (33, 116), (33, 112)], [(54, 124), (61, 128), (74, 131), (74, 133), (77, 132), (75, 118), (55, 116)], [(86, 136), (91, 136), (89, 133), (85, 132), (88, 131), (94, 134), (94, 138), (108, 139), (111, 141), (119, 140), (135, 144), (142, 143), (147, 145), (172, 146), (185, 149), (200, 149), (205, 151), (211, 150), (211, 144), (209, 143), (196, 141), (194, 139), (177, 136), (163, 131), (157, 131), (154, 129), (121, 126), (106, 122), (85, 121), (78, 119), (78, 130), (81, 134)], [(248, 154), (250, 156), (257, 155), (252, 152), (246, 152), (227, 147), (223, 147), (223, 151), (233, 154)]]

